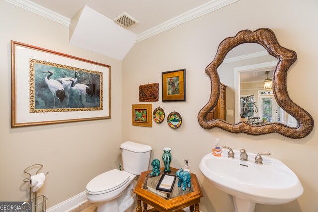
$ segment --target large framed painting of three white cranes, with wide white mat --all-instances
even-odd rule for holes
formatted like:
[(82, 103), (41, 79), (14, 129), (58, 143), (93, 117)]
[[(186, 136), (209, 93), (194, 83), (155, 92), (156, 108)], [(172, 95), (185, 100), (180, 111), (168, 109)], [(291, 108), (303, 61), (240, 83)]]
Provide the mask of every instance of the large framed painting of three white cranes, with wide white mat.
[(111, 118), (111, 67), (11, 41), (12, 127)]

